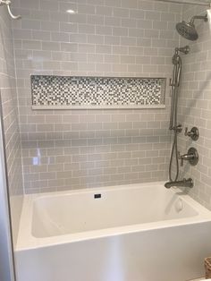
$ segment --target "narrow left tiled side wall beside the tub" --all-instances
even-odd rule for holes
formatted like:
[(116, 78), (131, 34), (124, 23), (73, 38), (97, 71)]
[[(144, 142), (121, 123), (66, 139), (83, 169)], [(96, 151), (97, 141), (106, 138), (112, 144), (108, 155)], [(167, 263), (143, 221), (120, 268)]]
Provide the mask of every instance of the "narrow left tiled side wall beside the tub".
[(23, 184), (13, 56), (13, 30), (12, 21), (5, 7), (0, 9), (0, 61), (0, 91), (2, 98), (2, 108), (0, 110), (4, 120), (6, 165), (12, 212), (13, 242), (15, 243), (21, 216)]

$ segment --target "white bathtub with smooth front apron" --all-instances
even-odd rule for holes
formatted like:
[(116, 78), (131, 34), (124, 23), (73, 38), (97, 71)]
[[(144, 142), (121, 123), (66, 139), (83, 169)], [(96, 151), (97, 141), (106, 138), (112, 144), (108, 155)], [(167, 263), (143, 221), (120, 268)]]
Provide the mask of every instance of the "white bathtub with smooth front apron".
[(18, 281), (185, 281), (211, 255), (211, 212), (164, 183), (25, 196)]

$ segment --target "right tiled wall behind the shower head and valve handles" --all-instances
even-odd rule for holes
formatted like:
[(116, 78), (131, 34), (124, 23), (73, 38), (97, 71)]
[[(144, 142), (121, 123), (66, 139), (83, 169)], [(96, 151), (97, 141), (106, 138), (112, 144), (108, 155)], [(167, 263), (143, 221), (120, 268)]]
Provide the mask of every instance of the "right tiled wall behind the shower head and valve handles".
[[(193, 15), (205, 13), (204, 7), (185, 5), (182, 19), (186, 21)], [(183, 56), (179, 121), (189, 129), (197, 126), (200, 137), (198, 141), (192, 141), (182, 132), (179, 150), (184, 154), (190, 147), (198, 149), (199, 161), (197, 166), (185, 163), (181, 178), (193, 178), (194, 188), (190, 195), (211, 209), (211, 25), (204, 21), (196, 21), (196, 25), (197, 41), (181, 39), (181, 46), (190, 45), (190, 55)]]

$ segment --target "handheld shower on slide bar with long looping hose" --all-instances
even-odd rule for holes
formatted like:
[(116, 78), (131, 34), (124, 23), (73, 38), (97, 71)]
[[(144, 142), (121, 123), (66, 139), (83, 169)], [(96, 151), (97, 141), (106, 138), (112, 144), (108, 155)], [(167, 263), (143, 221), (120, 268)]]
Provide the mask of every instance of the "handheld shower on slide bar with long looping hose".
[[(169, 130), (173, 131), (173, 148), (169, 164), (169, 179), (171, 182), (178, 180), (179, 176), (179, 159), (178, 159), (178, 149), (177, 149), (177, 135), (182, 131), (181, 124), (177, 123), (177, 104), (178, 104), (178, 94), (181, 81), (181, 55), (180, 53), (187, 55), (190, 52), (190, 47), (176, 47), (173, 54), (173, 80), (170, 80), (170, 86), (172, 87), (172, 105), (171, 105), (171, 115), (170, 115), (170, 125)], [(173, 179), (172, 167), (173, 167), (173, 155), (176, 158), (176, 175)]]

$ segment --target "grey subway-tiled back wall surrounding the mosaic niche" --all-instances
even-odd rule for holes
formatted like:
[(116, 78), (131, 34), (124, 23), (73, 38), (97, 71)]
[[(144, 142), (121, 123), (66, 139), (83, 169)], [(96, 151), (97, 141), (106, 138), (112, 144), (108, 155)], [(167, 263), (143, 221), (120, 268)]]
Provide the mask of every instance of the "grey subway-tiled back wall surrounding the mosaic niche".
[(25, 192), (165, 180), (168, 87), (165, 109), (42, 111), (31, 109), (30, 74), (169, 78), (181, 5), (141, 0), (14, 5), (14, 13), (22, 15), (13, 21), (13, 35)]

